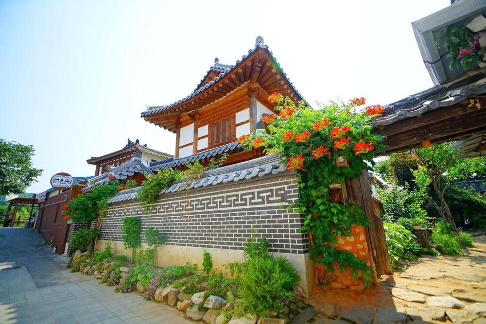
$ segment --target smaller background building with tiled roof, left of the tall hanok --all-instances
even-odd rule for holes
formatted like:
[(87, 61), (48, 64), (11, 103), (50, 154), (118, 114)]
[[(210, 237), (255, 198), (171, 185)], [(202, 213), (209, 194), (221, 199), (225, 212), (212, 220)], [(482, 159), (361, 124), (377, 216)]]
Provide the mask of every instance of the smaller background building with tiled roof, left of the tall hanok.
[(148, 166), (151, 162), (174, 157), (171, 154), (151, 149), (147, 147), (147, 144), (141, 145), (138, 139), (133, 142), (130, 140), (130, 138), (128, 138), (128, 142), (121, 150), (104, 154), (102, 156), (91, 156), (91, 158), (86, 160), (86, 162), (96, 166), (94, 175), (99, 176), (108, 171), (108, 166), (118, 167), (124, 162), (129, 161), (134, 157), (136, 152), (141, 153), (140, 160), (146, 166)]

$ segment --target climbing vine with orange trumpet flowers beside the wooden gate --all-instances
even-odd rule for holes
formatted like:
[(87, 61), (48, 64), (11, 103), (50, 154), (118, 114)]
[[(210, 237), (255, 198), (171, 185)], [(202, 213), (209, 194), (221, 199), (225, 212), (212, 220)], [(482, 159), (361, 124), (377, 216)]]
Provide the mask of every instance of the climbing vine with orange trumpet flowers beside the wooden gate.
[[(370, 269), (350, 252), (336, 250), (330, 243), (336, 236), (350, 236), (352, 225), (368, 224), (363, 210), (354, 203), (344, 205), (330, 201), (329, 186), (346, 178), (359, 178), (372, 163), (383, 136), (372, 132), (370, 120), (383, 108), (364, 106), (364, 98), (349, 102), (318, 104), (313, 110), (305, 102), (296, 105), (278, 93), (269, 97), (276, 104), (278, 115), (264, 116), (267, 132), (260, 130), (238, 140), (245, 149), (265, 147), (264, 152), (278, 152), (287, 163), (287, 170), (297, 170), (300, 198), (294, 207), (305, 215), (301, 231), (309, 233), (311, 257), (324, 264), (328, 271), (335, 267), (343, 272), (351, 268), (353, 277), (363, 273), (366, 284)], [(338, 161), (347, 166), (338, 167)], [(347, 161), (347, 163), (346, 163)]]

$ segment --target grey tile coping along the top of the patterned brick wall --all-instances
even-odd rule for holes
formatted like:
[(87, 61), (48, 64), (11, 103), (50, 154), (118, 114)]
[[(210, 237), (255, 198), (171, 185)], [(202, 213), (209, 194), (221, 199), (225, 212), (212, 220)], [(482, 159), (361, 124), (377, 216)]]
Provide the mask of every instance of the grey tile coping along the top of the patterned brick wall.
[[(249, 180), (253, 177), (263, 177), (268, 174), (277, 174), (286, 171), (286, 165), (282, 158), (277, 154), (262, 156), (253, 160), (240, 162), (230, 166), (206, 171), (200, 179), (188, 182), (183, 179), (174, 183), (171, 187), (163, 189), (160, 193), (171, 193), (183, 189), (200, 188), (207, 186), (216, 186), (228, 182), (240, 180)], [(108, 199), (108, 204), (133, 200), (137, 198), (139, 188), (120, 191), (113, 198)]]

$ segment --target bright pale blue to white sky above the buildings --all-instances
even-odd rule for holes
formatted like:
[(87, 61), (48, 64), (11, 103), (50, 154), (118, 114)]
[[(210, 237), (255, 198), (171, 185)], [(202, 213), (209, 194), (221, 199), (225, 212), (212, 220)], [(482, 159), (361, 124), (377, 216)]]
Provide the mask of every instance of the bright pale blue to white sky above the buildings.
[(0, 138), (32, 144), (44, 169), (86, 163), (129, 137), (174, 153), (140, 118), (187, 96), (217, 56), (233, 64), (261, 35), (309, 101), (386, 104), (431, 87), (411, 23), (449, 0), (0, 1)]

